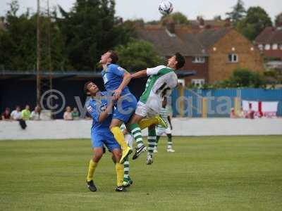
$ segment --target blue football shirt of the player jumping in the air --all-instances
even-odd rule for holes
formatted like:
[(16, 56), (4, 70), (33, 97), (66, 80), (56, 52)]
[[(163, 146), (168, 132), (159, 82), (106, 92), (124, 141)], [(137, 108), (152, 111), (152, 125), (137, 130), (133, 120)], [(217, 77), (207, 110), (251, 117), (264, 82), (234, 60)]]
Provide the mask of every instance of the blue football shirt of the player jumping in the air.
[[(102, 77), (106, 91), (114, 91), (118, 89), (123, 82), (123, 75), (125, 70), (118, 65), (109, 64), (106, 66), (106, 70), (102, 71)], [(121, 92), (121, 96), (130, 94), (128, 87), (126, 86)]]

